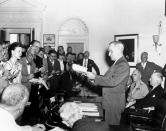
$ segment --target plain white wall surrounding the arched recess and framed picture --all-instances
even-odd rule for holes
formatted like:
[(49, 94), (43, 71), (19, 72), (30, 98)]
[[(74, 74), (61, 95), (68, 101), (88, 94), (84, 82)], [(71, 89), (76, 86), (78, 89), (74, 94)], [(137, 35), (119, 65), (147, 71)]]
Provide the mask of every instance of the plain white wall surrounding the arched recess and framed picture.
[[(80, 18), (87, 24), (91, 58), (99, 65), (102, 74), (108, 68), (104, 62), (104, 50), (114, 35), (118, 34), (138, 33), (139, 56), (142, 51), (148, 51), (150, 61), (161, 66), (166, 62), (165, 0), (42, 0), (42, 2), (46, 5), (43, 14), (44, 34), (57, 35), (60, 25), (71, 17)], [(160, 20), (163, 48), (159, 56), (155, 53), (152, 35), (157, 34)]]

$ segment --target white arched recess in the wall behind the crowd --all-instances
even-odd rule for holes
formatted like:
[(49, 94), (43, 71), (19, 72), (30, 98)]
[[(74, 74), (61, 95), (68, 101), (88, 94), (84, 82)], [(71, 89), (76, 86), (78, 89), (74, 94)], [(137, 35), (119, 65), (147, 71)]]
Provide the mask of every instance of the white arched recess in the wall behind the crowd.
[(79, 18), (65, 20), (58, 31), (58, 46), (62, 45), (66, 50), (71, 46), (73, 53), (80, 53), (88, 50), (89, 30), (86, 23)]

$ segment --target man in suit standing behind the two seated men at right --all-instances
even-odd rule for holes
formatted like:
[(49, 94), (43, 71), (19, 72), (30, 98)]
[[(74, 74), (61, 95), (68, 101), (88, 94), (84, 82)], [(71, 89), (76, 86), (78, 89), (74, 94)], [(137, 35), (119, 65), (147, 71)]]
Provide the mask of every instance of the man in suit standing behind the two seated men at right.
[(141, 62), (136, 65), (136, 69), (138, 69), (141, 72), (142, 75), (142, 81), (149, 86), (149, 79), (150, 76), (154, 71), (161, 72), (162, 68), (153, 63), (148, 61), (148, 53), (142, 52), (141, 54)]

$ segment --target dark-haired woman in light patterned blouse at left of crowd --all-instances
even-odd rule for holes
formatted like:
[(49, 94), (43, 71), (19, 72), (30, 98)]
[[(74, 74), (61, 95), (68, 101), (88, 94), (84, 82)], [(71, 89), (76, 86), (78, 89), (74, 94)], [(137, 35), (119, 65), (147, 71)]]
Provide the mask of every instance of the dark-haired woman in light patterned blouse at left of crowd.
[(12, 43), (8, 48), (9, 60), (5, 63), (5, 71), (11, 83), (21, 83), (22, 65), (18, 60), (22, 56), (22, 45), (19, 42)]

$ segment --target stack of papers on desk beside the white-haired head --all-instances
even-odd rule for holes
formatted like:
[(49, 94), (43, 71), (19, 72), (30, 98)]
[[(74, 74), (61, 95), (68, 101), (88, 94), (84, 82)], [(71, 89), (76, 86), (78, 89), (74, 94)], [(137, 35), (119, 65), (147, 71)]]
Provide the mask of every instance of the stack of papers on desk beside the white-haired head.
[(97, 106), (94, 103), (77, 103), (84, 116), (100, 116)]

